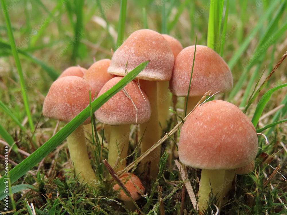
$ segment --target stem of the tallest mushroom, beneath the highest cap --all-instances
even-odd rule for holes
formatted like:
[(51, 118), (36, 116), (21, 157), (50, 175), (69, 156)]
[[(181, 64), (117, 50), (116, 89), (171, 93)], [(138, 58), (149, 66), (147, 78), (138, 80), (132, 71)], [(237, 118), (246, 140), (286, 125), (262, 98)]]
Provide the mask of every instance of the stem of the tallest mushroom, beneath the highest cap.
[[(158, 140), (160, 140), (160, 126), (158, 122), (158, 105), (157, 105), (157, 87), (156, 81), (140, 80), (141, 88), (146, 92), (148, 99), (150, 100), (151, 116), (150, 120), (146, 123), (140, 124), (140, 136), (144, 136), (141, 141), (141, 153), (150, 149)], [(158, 166), (160, 161), (160, 146), (156, 148), (147, 157), (141, 160), (139, 166), (140, 172), (144, 172), (148, 163), (150, 162), (150, 176), (156, 178), (158, 175)]]

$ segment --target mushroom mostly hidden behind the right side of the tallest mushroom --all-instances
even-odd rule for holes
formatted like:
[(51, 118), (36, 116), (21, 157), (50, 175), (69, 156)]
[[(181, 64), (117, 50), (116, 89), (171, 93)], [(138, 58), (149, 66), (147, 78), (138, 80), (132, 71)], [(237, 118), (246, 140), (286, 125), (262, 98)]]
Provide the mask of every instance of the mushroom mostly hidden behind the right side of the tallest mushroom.
[[(162, 36), (168, 42), (175, 60), (179, 52), (181, 52), (181, 50), (183, 49), (181, 43), (177, 39), (167, 34), (162, 34)], [(171, 104), (172, 93), (169, 91), (168, 87), (169, 81), (158, 81), (157, 83), (158, 120), (160, 122), (162, 131), (167, 129), (167, 122), (169, 119), (169, 115), (171, 114), (169, 111), (169, 107)]]

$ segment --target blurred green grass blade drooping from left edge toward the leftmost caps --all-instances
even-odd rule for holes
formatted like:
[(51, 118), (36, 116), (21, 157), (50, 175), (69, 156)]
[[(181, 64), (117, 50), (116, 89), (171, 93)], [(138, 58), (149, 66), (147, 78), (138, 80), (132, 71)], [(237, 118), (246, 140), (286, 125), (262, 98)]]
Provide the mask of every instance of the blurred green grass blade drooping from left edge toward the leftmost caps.
[[(1, 46), (1, 48), (7, 48), (7, 49), (11, 50), (11, 46), (2, 40), (0, 40), (0, 46)], [(25, 51), (20, 50), (20, 49), (18, 49), (18, 53), (22, 54), (23, 56), (25, 56), (26, 58), (28, 58), (32, 62), (34, 62), (34, 63), (38, 64), (40, 67), (42, 67), (42, 69), (44, 69), (54, 81), (58, 78), (59, 73), (57, 71), (55, 71), (54, 69), (52, 69), (51, 67), (49, 67), (44, 62), (42, 62), (41, 60), (35, 58), (34, 56), (29, 54), (28, 52), (25, 52)]]

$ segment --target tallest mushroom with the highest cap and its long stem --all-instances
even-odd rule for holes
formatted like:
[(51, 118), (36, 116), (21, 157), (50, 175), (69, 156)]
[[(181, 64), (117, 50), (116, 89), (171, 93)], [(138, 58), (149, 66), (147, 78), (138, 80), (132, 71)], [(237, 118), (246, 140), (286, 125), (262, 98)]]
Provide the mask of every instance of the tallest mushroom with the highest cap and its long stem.
[[(148, 66), (137, 75), (140, 86), (150, 100), (152, 114), (150, 120), (140, 125), (142, 138), (141, 153), (146, 152), (160, 140), (160, 125), (158, 121), (157, 81), (168, 81), (172, 75), (174, 56), (164, 37), (152, 30), (144, 29), (133, 32), (127, 40), (115, 51), (108, 73), (125, 76), (139, 63), (150, 60)], [(150, 175), (158, 174), (160, 147), (141, 161), (140, 170), (144, 172), (150, 162)]]

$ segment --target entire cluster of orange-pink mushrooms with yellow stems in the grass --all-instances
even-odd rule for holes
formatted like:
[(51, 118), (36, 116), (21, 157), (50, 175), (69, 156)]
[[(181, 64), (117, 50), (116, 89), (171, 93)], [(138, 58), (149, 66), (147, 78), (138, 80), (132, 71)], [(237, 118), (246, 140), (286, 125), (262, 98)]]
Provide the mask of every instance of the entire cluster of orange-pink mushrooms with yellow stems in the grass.
[[(185, 97), (181, 108), (190, 113), (207, 91), (225, 93), (233, 87), (228, 65), (211, 48), (203, 45), (183, 48), (171, 36), (144, 29), (132, 33), (111, 60), (99, 60), (88, 70), (66, 69), (52, 84), (44, 101), (43, 115), (69, 122), (89, 105), (90, 92), (92, 99), (102, 95), (146, 60), (150, 63), (135, 80), (95, 112), (97, 120), (106, 128), (108, 162), (118, 172), (125, 171), (127, 165), (131, 125), (139, 125), (138, 139), (143, 154), (170, 129), (172, 96)], [(90, 119), (84, 122), (88, 123)], [(67, 138), (70, 157), (82, 181), (96, 181), (82, 130), (80, 126)], [(191, 112), (183, 124), (178, 150), (181, 163), (201, 169), (200, 212), (207, 209), (211, 194), (218, 199), (219, 207), (225, 201), (231, 185), (218, 189), (224, 180), (232, 181), (235, 174), (253, 171), (257, 149), (256, 130), (235, 105), (209, 101)], [(141, 160), (137, 173), (155, 179), (161, 153), (161, 146), (150, 151)], [(134, 200), (144, 194), (145, 188), (135, 175), (125, 173), (121, 180)], [(119, 186), (115, 185), (114, 189), (119, 190)], [(128, 201), (122, 191), (119, 198)]]

